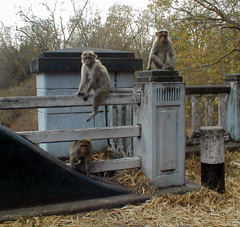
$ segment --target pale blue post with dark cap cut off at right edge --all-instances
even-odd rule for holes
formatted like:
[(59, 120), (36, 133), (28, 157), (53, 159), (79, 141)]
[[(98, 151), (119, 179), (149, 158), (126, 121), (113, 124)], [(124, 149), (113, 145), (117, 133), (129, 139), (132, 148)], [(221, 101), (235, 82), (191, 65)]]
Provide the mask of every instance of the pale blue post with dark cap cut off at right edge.
[(232, 139), (238, 141), (240, 140), (240, 74), (227, 75), (225, 82), (230, 86), (226, 131)]

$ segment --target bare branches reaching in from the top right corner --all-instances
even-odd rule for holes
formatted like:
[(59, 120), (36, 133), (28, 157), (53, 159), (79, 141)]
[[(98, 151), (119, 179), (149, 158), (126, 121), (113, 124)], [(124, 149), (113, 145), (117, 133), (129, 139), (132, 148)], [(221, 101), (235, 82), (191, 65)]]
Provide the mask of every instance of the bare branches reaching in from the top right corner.
[[(221, 61), (230, 54), (240, 51), (240, 1), (239, 0), (189, 0), (179, 1), (172, 8), (181, 12), (182, 21), (203, 24), (205, 31), (209, 29), (228, 30), (234, 33), (237, 39), (230, 42), (236, 43), (235, 47), (224, 53), (219, 60)], [(204, 32), (204, 30), (203, 30)], [(217, 60), (216, 62), (219, 62)]]

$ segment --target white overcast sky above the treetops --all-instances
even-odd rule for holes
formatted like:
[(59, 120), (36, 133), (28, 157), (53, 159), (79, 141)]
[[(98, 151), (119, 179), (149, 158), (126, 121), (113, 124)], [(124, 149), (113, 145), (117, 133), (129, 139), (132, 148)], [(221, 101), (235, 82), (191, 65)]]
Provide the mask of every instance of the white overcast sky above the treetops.
[[(83, 0), (75, 0), (75, 3), (82, 3)], [(32, 7), (36, 16), (44, 17), (46, 14), (46, 8), (41, 6), (41, 3), (46, 3), (51, 9), (54, 8), (56, 0), (7, 0), (0, 7), (0, 21), (5, 26), (20, 25), (21, 20), (16, 13), (21, 9), (27, 11), (29, 7)], [(68, 15), (72, 13), (72, 0), (57, 0), (57, 15), (65, 16), (67, 20)], [(122, 3), (130, 5), (136, 9), (146, 9), (150, 3), (149, 0), (90, 0), (91, 4), (102, 11), (101, 16), (104, 18), (107, 14), (108, 8), (115, 3)], [(48, 14), (49, 15), (49, 14)]]

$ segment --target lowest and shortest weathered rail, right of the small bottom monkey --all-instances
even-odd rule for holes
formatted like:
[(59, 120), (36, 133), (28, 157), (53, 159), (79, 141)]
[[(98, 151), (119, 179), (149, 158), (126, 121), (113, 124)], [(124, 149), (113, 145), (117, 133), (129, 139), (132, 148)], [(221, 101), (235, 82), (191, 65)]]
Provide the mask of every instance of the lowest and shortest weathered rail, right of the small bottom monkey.
[[(76, 168), (78, 169), (78, 165), (76, 165)], [(100, 172), (123, 170), (123, 169), (134, 169), (134, 168), (141, 168), (140, 157), (93, 161), (91, 163), (90, 172), (100, 173)]]

